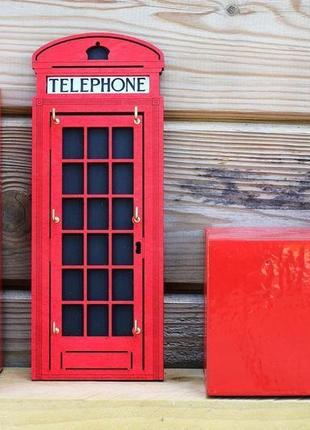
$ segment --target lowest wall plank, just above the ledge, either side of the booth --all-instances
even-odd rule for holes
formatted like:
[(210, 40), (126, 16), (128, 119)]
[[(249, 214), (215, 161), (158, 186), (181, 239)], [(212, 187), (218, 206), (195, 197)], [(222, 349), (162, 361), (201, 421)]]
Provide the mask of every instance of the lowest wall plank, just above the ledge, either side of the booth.
[[(30, 292), (4, 293), (5, 366), (30, 365)], [(203, 298), (193, 294), (165, 296), (165, 366), (201, 367)], [(1, 384), (0, 384), (1, 385)]]

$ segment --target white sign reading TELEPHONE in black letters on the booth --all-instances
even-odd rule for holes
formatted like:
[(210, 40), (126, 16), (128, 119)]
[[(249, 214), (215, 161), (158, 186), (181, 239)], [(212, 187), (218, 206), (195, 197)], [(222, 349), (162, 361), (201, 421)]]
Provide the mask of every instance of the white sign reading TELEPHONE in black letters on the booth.
[(47, 94), (148, 94), (149, 76), (51, 76)]

